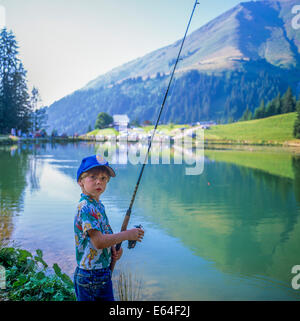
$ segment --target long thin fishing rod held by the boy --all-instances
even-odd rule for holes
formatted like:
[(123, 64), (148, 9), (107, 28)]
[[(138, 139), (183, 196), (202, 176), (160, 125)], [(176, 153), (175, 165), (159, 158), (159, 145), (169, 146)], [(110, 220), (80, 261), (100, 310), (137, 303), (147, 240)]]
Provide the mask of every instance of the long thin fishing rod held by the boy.
[[(188, 30), (190, 28), (190, 24), (191, 24), (195, 9), (196, 9), (198, 4), (200, 4), (200, 3), (198, 2), (198, 0), (196, 0), (195, 4), (194, 4), (194, 7), (193, 7), (193, 10), (192, 10), (192, 13), (191, 13), (191, 16), (190, 16), (190, 19), (189, 19), (189, 22), (188, 22), (188, 25), (187, 25), (187, 28), (186, 28), (186, 31), (185, 31), (185, 34), (184, 34), (184, 37), (183, 37), (182, 42), (181, 42), (181, 46), (180, 46), (180, 49), (179, 49), (179, 52), (178, 52), (178, 55), (177, 55), (177, 59), (176, 59), (175, 65), (173, 67), (173, 71), (172, 71), (172, 74), (171, 74), (171, 77), (170, 77), (170, 81), (169, 81), (167, 90), (165, 92), (165, 96), (164, 96), (162, 105), (160, 107), (160, 111), (159, 111), (159, 114), (158, 114), (158, 117), (157, 117), (157, 120), (156, 120), (156, 123), (155, 123), (155, 126), (154, 126), (154, 130), (153, 130), (153, 133), (152, 133), (152, 136), (151, 136), (151, 139), (150, 139), (149, 146), (148, 146), (148, 151), (147, 151), (147, 154), (146, 154), (146, 157), (145, 157), (145, 161), (143, 163), (143, 166), (141, 168), (137, 183), (135, 185), (135, 189), (134, 189), (131, 201), (130, 201), (130, 205), (129, 205), (128, 210), (126, 212), (126, 215), (124, 217), (124, 221), (123, 221), (123, 224), (122, 224), (122, 227), (121, 227), (121, 232), (127, 230), (127, 226), (128, 226), (130, 215), (131, 215), (132, 206), (133, 206), (133, 203), (134, 203), (134, 200), (135, 200), (135, 196), (136, 196), (137, 190), (139, 188), (139, 185), (140, 185), (140, 182), (141, 182), (141, 179), (142, 179), (142, 176), (143, 176), (143, 172), (144, 172), (145, 166), (146, 166), (147, 161), (148, 161), (148, 157), (149, 157), (149, 154), (150, 154), (150, 149), (151, 149), (151, 146), (152, 146), (152, 141), (153, 141), (153, 138), (154, 138), (154, 135), (155, 135), (155, 132), (156, 132), (159, 120), (160, 120), (160, 116), (162, 114), (162, 111), (164, 109), (164, 106), (165, 106), (165, 103), (166, 103), (166, 100), (167, 100), (167, 97), (168, 97), (168, 94), (169, 94), (169, 90), (170, 90), (170, 87), (171, 87), (171, 83), (172, 83), (172, 80), (173, 80), (173, 77), (174, 77), (174, 74), (175, 74), (175, 70), (176, 70), (177, 64), (178, 64), (178, 62), (180, 60), (180, 55), (181, 55), (181, 51), (182, 51), (182, 48), (183, 48), (183, 45), (184, 45), (184, 42), (185, 42), (186, 35), (187, 35)], [(141, 228), (142, 226), (141, 225), (136, 225), (135, 227), (136, 228)], [(134, 248), (135, 244), (136, 244), (136, 241), (128, 241), (128, 247), (129, 248)], [(119, 251), (121, 245), (122, 245), (122, 242), (118, 243), (116, 245), (116, 250), (117, 251)], [(115, 264), (116, 264), (116, 261), (112, 261), (111, 262), (111, 265), (110, 265), (111, 271), (114, 270)]]

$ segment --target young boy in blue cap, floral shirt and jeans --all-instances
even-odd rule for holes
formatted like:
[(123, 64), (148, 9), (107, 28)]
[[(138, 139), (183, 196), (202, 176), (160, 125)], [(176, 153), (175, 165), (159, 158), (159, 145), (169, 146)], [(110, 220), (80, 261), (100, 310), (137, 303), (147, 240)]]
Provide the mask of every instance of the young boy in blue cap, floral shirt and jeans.
[(82, 194), (74, 220), (76, 243), (75, 293), (78, 301), (114, 301), (110, 264), (119, 260), (122, 248), (115, 245), (125, 240), (141, 242), (144, 231), (139, 228), (113, 234), (100, 195), (115, 171), (100, 155), (82, 160), (77, 182)]

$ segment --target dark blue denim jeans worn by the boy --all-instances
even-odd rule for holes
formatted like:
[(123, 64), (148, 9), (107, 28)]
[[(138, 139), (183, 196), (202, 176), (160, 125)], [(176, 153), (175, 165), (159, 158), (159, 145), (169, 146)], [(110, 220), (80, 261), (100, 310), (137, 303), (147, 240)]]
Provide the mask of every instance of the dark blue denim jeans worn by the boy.
[(74, 287), (77, 301), (114, 301), (110, 268), (83, 270), (77, 267)]

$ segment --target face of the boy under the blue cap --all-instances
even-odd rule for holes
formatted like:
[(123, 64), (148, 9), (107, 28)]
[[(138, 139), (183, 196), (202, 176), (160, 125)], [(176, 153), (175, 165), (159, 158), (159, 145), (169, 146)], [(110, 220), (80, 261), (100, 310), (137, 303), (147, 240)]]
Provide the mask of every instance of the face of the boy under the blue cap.
[(105, 171), (93, 168), (83, 174), (78, 184), (84, 194), (99, 201), (99, 197), (105, 191), (109, 179), (110, 176)]

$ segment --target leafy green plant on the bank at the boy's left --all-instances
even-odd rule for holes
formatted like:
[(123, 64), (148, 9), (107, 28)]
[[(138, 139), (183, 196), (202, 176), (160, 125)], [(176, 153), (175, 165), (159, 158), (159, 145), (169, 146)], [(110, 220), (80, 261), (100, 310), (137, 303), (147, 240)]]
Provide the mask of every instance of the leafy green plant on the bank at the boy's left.
[[(36, 255), (18, 248), (0, 248), (0, 265), (6, 270), (6, 289), (2, 296), (12, 301), (73, 301), (73, 282), (55, 263), (53, 270)], [(1, 292), (1, 291), (0, 291)]]

